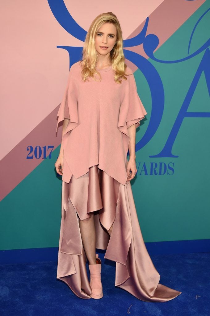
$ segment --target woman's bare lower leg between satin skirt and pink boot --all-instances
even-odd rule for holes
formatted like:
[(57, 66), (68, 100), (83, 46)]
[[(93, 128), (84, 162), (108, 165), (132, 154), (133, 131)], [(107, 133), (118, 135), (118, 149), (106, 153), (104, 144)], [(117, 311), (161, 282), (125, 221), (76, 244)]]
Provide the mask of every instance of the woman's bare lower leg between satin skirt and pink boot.
[(94, 224), (94, 214), (89, 218), (79, 219), (79, 227), (85, 254), (90, 264), (96, 264), (96, 230)]

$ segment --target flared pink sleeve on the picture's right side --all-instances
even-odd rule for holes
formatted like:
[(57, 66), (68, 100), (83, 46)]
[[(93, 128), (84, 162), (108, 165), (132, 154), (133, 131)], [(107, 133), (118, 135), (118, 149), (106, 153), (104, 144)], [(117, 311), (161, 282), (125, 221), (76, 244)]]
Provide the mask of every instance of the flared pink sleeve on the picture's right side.
[(124, 98), (124, 102), (127, 103), (128, 112), (126, 118), (127, 128), (133, 124), (136, 124), (136, 128), (140, 125), (140, 120), (144, 119), (147, 114), (137, 92), (136, 81), (132, 72), (132, 75), (128, 77), (128, 91)]

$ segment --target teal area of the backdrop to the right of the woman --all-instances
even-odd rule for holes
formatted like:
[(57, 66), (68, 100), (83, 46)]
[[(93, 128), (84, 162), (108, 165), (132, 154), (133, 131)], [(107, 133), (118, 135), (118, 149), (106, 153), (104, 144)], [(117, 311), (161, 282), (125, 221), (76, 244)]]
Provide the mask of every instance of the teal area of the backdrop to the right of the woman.
[[(188, 55), (190, 35), (200, 16), (208, 9), (204, 3), (155, 53), (161, 60), (178, 60)], [(199, 49), (209, 34), (209, 14), (198, 24), (189, 54)], [(174, 157), (151, 157), (164, 148), (177, 115), (188, 94), (204, 54), (208, 53), (204, 71), (195, 86), (187, 112), (210, 112), (209, 49), (188, 60), (167, 64), (149, 59), (164, 86), (164, 112), (151, 141), (136, 152), (137, 176), (132, 189), (137, 214), (145, 241), (195, 240), (210, 238), (210, 118), (185, 117), (172, 146)], [(205, 76), (206, 73), (206, 76)], [(151, 96), (144, 76), (137, 70), (135, 78), (139, 96), (151, 113)], [(208, 86), (207, 86), (208, 80)], [(209, 114), (208, 114), (209, 115)], [(150, 117), (150, 114), (148, 114)], [(144, 120), (137, 132), (137, 141), (145, 132), (149, 120)], [(161, 175), (152, 163), (173, 167)], [(146, 168), (146, 169), (145, 169)], [(164, 168), (162, 168), (164, 169)]]

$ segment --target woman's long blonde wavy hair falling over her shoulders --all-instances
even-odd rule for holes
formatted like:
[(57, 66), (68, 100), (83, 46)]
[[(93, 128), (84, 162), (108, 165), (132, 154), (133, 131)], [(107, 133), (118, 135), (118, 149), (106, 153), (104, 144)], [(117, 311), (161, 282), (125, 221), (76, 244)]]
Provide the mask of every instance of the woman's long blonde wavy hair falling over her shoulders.
[[(82, 51), (83, 59), (80, 61), (83, 81), (86, 81), (88, 77), (92, 77), (95, 81), (101, 80), (101, 74), (96, 70), (98, 55), (95, 48), (95, 36), (98, 29), (107, 22), (113, 23), (117, 29), (116, 44), (110, 52), (112, 69), (115, 71), (114, 80), (116, 83), (121, 83), (122, 79), (127, 80), (126, 75), (128, 74), (125, 74), (127, 65), (125, 64), (125, 56), (123, 54), (123, 40), (120, 23), (116, 15), (114, 15), (112, 12), (106, 12), (96, 16), (86, 34)], [(96, 80), (94, 74), (98, 74), (100, 79)]]

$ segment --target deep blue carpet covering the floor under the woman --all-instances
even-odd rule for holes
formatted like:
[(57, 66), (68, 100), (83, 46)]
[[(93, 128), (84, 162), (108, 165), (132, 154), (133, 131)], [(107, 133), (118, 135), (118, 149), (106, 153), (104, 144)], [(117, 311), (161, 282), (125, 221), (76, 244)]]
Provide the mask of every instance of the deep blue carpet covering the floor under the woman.
[[(0, 265), (1, 315), (210, 315), (210, 252), (151, 255), (160, 283), (182, 291), (175, 299), (161, 303), (140, 301), (115, 287), (115, 262), (97, 253), (102, 260), (104, 294), (99, 300), (80, 299), (57, 280), (56, 261)], [(89, 276), (88, 262), (87, 272)]]

